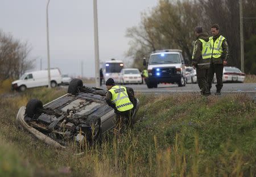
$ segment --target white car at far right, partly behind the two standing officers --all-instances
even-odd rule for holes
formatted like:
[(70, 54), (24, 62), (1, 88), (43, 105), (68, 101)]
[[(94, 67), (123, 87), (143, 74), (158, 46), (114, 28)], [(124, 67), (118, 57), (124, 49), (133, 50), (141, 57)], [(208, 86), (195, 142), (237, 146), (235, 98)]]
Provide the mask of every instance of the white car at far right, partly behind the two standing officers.
[[(224, 66), (222, 82), (242, 82), (245, 80), (245, 73), (233, 66)], [(213, 77), (213, 83), (217, 83), (216, 74)]]

